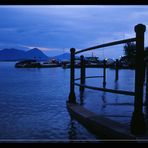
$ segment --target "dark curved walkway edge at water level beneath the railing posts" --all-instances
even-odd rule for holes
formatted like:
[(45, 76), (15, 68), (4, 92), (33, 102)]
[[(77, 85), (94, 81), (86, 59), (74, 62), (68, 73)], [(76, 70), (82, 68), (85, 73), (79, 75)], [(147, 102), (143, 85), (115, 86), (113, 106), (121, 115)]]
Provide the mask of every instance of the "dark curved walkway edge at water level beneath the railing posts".
[(79, 104), (67, 103), (67, 108), (72, 116), (93, 133), (99, 134), (102, 139), (136, 140), (136, 136), (130, 133), (127, 126), (119, 122), (99, 116)]

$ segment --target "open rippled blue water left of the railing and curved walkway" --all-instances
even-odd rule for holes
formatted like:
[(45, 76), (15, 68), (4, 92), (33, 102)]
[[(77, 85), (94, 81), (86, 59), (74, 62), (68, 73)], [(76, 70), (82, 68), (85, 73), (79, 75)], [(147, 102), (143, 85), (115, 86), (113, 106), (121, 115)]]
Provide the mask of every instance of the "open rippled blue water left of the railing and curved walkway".
[(96, 140), (66, 108), (69, 70), (0, 63), (0, 141)]

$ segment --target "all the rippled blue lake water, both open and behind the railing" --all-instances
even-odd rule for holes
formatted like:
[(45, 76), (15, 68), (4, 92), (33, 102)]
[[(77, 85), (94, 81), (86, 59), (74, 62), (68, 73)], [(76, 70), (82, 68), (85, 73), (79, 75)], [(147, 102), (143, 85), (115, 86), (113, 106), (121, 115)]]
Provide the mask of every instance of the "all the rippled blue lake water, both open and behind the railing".
[[(14, 65), (0, 62), (0, 141), (100, 141), (69, 116), (66, 108), (69, 69), (17, 69)], [(107, 69), (106, 88), (134, 91), (133, 70), (120, 70), (118, 82), (114, 81), (114, 73)], [(87, 76), (92, 75), (102, 75), (102, 69), (88, 68)], [(102, 87), (101, 78), (88, 79), (86, 83)], [(130, 123), (134, 109), (131, 96), (86, 89), (82, 102), (76, 86), (76, 98), (97, 114), (126, 125)], [(147, 107), (143, 111), (147, 118)]]

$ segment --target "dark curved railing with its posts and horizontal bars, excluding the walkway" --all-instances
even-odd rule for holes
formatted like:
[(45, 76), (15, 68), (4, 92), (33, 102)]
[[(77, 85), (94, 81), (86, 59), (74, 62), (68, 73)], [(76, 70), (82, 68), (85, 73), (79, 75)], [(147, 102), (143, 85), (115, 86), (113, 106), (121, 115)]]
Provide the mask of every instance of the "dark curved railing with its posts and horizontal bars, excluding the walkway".
[[(117, 94), (124, 94), (124, 95), (131, 95), (134, 96), (134, 111), (131, 119), (131, 132), (134, 134), (141, 134), (145, 132), (145, 120), (143, 115), (143, 85), (144, 85), (144, 74), (145, 74), (145, 67), (144, 67), (144, 32), (146, 30), (145, 25), (138, 24), (135, 26), (136, 37), (129, 38), (125, 40), (119, 40), (115, 42), (110, 42), (106, 44), (101, 44), (97, 46), (93, 46), (90, 48), (82, 49), (80, 51), (75, 51), (74, 48), (71, 48), (71, 67), (70, 67), (70, 94), (69, 94), (69, 102), (76, 103), (75, 97), (75, 85), (80, 86), (80, 90), (84, 91), (84, 88), (89, 88), (93, 90), (100, 90), (110, 93), (117, 93)], [(106, 61), (104, 61), (104, 70), (103, 70), (103, 88), (100, 87), (93, 87), (85, 85), (85, 78), (93, 78), (85, 76), (85, 61), (84, 56), (81, 56), (81, 76), (80, 78), (75, 79), (75, 55), (99, 49), (103, 47), (119, 45), (127, 42), (136, 42), (136, 64), (135, 64), (135, 91), (129, 92), (125, 90), (113, 90), (105, 88), (106, 85)], [(116, 61), (118, 63), (118, 61)], [(117, 64), (118, 65), (118, 64)], [(116, 65), (116, 67), (117, 67)], [(75, 83), (75, 80), (80, 80), (80, 84)], [(118, 68), (116, 68), (116, 77), (115, 80), (118, 80)]]

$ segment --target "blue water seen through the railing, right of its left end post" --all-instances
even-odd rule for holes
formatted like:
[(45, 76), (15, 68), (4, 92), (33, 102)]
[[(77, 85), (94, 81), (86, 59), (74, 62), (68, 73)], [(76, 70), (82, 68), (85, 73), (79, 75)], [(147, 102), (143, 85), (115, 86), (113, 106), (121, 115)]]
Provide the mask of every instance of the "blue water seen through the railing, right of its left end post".
[[(86, 76), (93, 76), (96, 75), (96, 73), (102, 75), (103, 69), (87, 69)], [(106, 88), (134, 92), (135, 71), (119, 70), (119, 80), (115, 81), (115, 71), (113, 69), (107, 69), (106, 82)], [(103, 87), (103, 78), (87, 79), (86, 85)], [(144, 98), (146, 94), (145, 90), (144, 87)], [(79, 97), (80, 95), (77, 94), (77, 98)], [(130, 126), (131, 116), (134, 111), (133, 96), (113, 94), (86, 88), (84, 93), (81, 94), (80, 103), (97, 114)], [(147, 108), (148, 107), (145, 106), (143, 110), (146, 120), (148, 119)]]

